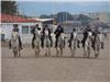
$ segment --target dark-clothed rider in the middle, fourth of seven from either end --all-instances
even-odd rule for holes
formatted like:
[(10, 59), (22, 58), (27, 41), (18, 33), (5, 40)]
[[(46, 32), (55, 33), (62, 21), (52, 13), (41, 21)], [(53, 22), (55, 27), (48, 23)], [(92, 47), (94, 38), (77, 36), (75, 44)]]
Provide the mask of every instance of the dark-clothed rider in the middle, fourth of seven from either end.
[(55, 47), (57, 47), (57, 42), (58, 42), (58, 37), (61, 36), (61, 34), (64, 33), (64, 28), (58, 25), (57, 28), (55, 30), (54, 34), (55, 34)]

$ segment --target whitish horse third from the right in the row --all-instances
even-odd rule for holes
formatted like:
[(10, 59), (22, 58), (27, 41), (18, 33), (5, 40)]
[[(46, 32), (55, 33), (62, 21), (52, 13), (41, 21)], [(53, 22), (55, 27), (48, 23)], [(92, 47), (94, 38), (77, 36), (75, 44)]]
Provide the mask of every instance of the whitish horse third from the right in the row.
[(78, 39), (77, 39), (77, 33), (74, 32), (73, 33), (73, 39), (72, 39), (72, 46), (70, 46), (72, 56), (75, 55), (75, 51), (76, 51), (76, 48), (77, 48), (77, 42), (78, 42)]

